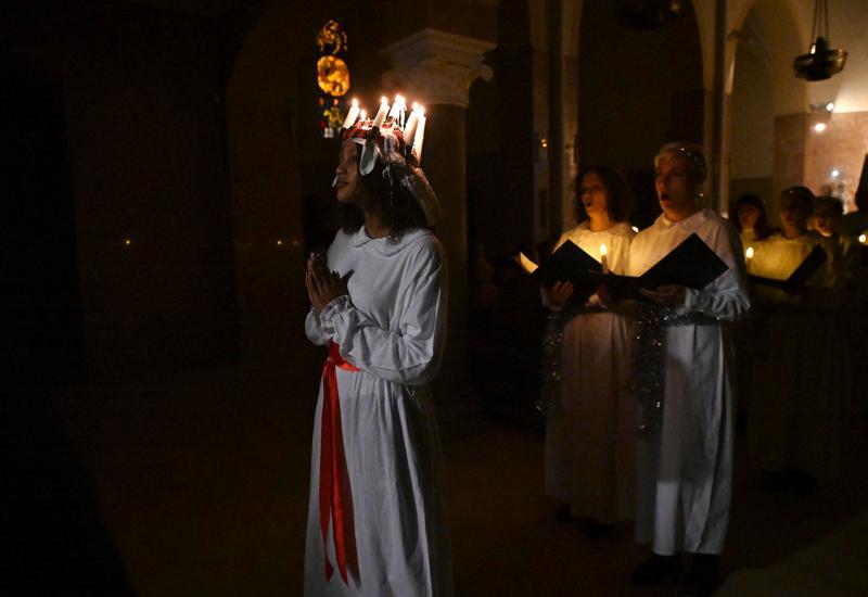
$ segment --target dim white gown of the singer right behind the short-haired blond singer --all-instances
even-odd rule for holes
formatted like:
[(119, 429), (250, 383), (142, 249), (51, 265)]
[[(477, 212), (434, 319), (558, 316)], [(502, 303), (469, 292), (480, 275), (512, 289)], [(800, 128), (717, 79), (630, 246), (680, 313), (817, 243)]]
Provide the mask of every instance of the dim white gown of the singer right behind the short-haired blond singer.
[(842, 424), (848, 376), (845, 277), (837, 239), (807, 232), (773, 234), (754, 245), (748, 270), (787, 279), (815, 246), (828, 255), (808, 280), (806, 295), (754, 285), (758, 361), (751, 395), (748, 449), (757, 471), (794, 467), (816, 478), (841, 472)]

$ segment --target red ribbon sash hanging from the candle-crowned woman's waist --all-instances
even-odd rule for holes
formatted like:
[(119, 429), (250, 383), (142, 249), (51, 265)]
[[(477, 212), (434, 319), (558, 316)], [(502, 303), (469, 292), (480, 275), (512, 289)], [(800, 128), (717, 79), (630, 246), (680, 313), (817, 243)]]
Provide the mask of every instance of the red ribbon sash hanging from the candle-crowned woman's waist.
[(344, 360), (337, 344), (329, 344), (329, 358), (322, 367), (322, 419), (319, 447), (319, 525), (322, 531), (322, 552), (326, 560), (326, 582), (334, 567), (329, 561), (328, 536), (329, 518), (332, 518), (334, 552), (337, 569), (344, 584), (347, 584), (347, 570), (358, 579), (358, 555), (356, 554), (356, 530), (353, 523), (353, 492), (346, 470), (344, 434), (341, 428), (341, 402), (337, 396), (337, 373), (340, 367), (345, 371), (358, 371)]

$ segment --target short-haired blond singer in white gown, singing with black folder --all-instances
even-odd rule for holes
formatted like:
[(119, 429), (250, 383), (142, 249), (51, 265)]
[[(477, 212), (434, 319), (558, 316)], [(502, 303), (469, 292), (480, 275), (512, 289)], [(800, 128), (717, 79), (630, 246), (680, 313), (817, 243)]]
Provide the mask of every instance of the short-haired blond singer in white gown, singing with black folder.
[(651, 371), (658, 383), (654, 401), (642, 401), (650, 422), (638, 437), (636, 538), (651, 544), (652, 557), (631, 581), (660, 584), (680, 570), (680, 554), (691, 552), (687, 589), (705, 595), (719, 582), (732, 490), (732, 355), (722, 321), (750, 306), (744, 255), (735, 227), (699, 206), (707, 173), (701, 148), (665, 144), (654, 166), (663, 214), (630, 243), (627, 274), (641, 276), (693, 233), (728, 269), (700, 290), (641, 291), (653, 306), (639, 315), (634, 374)]

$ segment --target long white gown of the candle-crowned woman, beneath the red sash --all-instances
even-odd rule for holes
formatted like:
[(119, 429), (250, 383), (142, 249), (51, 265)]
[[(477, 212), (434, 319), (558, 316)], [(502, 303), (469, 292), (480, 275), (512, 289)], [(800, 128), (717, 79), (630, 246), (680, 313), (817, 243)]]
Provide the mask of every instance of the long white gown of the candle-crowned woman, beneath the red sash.
[[(359, 371), (337, 369), (344, 452), (352, 488), (359, 584), (335, 571), (327, 583), (319, 519), (320, 383), (314, 427), (305, 595), (369, 597), (452, 594), (442, 495), (439, 437), (426, 383), (437, 372), (446, 330), (446, 262), (427, 230), (397, 244), (365, 227), (339, 232), (329, 269), (350, 274), (339, 297), (305, 322), (319, 345), (334, 341)], [(333, 535), (329, 561), (335, 563)]]

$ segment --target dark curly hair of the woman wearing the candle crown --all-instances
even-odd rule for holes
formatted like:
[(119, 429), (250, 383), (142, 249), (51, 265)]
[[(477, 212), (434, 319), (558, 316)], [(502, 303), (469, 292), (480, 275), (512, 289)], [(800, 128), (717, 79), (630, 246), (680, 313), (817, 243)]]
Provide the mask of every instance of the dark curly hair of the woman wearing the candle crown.
[[(356, 153), (356, 162), (361, 152)], [(356, 201), (337, 203), (337, 224), (341, 229), (352, 234), (365, 224), (365, 214), (375, 214), (380, 223), (391, 229), (390, 242), (396, 243), (404, 232), (411, 228), (429, 228), (425, 213), (412, 192), (399, 182), (408, 174), (408, 166), (393, 164), (390, 173), (378, 160), (373, 169), (367, 175), (359, 173), (359, 185), (356, 187)]]

